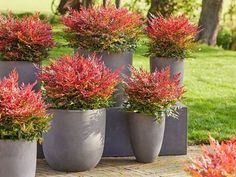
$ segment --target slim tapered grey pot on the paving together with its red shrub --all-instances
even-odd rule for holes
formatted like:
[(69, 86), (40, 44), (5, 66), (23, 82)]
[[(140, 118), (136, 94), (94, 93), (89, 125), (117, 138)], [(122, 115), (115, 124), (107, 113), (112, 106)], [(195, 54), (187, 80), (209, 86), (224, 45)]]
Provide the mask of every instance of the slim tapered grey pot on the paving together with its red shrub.
[(158, 156), (165, 129), (165, 113), (176, 116), (173, 105), (184, 93), (179, 75), (170, 79), (170, 69), (149, 73), (131, 68), (132, 76), (124, 83), (130, 113), (130, 138), (138, 162), (149, 163)]

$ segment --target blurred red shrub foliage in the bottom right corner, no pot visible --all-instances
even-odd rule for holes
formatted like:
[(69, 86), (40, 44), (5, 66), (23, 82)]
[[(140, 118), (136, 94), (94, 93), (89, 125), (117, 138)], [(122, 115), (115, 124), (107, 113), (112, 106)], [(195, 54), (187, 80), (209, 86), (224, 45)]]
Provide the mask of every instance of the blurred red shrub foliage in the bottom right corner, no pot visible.
[(209, 139), (210, 147), (202, 147), (202, 156), (187, 171), (193, 177), (236, 177), (236, 138), (222, 143)]

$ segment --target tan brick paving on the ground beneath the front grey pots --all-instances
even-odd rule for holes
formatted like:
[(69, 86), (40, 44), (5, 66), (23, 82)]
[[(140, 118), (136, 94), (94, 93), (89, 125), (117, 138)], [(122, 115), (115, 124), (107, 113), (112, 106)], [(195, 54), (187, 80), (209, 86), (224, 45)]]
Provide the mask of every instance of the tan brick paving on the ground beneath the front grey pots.
[(184, 165), (199, 153), (198, 146), (191, 146), (188, 155), (161, 156), (150, 164), (138, 163), (134, 157), (103, 158), (96, 168), (78, 173), (58, 172), (38, 160), (36, 177), (185, 177)]

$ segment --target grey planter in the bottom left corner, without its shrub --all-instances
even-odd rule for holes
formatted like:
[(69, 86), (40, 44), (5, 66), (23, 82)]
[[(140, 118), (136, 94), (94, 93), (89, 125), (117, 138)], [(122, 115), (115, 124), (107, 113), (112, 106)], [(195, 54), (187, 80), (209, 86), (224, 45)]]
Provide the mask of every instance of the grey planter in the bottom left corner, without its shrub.
[(0, 176), (35, 177), (36, 142), (0, 140)]

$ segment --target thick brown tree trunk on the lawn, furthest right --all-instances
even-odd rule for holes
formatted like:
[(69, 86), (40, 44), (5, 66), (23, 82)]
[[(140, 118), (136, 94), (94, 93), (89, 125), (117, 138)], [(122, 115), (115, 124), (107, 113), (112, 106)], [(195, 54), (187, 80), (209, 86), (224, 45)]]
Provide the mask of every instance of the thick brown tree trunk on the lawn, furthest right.
[(202, 11), (198, 23), (201, 31), (197, 40), (208, 45), (216, 44), (222, 6), (223, 0), (202, 0)]

